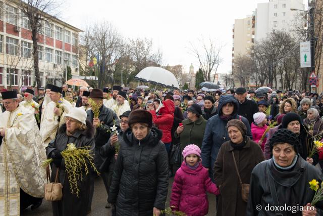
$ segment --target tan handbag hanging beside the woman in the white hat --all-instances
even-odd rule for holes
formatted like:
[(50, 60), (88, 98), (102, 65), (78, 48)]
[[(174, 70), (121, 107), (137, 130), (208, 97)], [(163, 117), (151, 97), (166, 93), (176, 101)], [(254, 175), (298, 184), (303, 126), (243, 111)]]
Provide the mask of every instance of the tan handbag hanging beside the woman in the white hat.
[(47, 184), (45, 184), (45, 200), (47, 201), (58, 201), (61, 200), (63, 197), (63, 185), (57, 182), (58, 176), (59, 168), (57, 168), (56, 170), (55, 182), (50, 182), (49, 166), (46, 167)]

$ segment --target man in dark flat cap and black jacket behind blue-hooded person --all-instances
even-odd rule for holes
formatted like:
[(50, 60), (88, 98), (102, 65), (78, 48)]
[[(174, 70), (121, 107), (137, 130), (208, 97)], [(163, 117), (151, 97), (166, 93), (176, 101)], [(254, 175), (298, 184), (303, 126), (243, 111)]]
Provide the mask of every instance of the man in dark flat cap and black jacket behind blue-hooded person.
[(253, 121), (253, 114), (258, 112), (257, 104), (253, 100), (246, 99), (247, 91), (245, 88), (240, 87), (236, 89), (236, 94), (239, 102), (238, 114), (247, 118), (249, 124), (251, 125)]

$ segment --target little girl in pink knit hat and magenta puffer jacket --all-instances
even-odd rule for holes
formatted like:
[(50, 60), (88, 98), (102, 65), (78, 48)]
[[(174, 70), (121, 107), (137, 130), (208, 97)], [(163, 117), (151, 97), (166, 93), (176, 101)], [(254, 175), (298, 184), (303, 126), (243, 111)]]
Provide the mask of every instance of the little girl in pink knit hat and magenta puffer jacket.
[(177, 170), (171, 194), (170, 206), (187, 216), (202, 216), (208, 212), (206, 191), (219, 195), (216, 184), (208, 177), (208, 171), (201, 164), (201, 150), (188, 145), (183, 152), (184, 161)]

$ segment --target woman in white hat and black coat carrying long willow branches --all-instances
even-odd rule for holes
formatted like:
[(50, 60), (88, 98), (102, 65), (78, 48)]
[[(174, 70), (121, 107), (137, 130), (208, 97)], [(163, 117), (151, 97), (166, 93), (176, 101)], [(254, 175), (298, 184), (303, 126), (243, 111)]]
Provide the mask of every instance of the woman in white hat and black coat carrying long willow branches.
[[(55, 140), (51, 141), (46, 148), (47, 158), (52, 158), (51, 182), (55, 181), (56, 171), (59, 168), (58, 182), (63, 185), (63, 198), (60, 201), (52, 201), (52, 212), (54, 216), (86, 215), (89, 203), (89, 190), (92, 178), (85, 175), (79, 182), (79, 197), (71, 194), (68, 175), (65, 172), (65, 162), (61, 152), (66, 149), (67, 144), (74, 143), (75, 147), (89, 147), (94, 150), (94, 127), (91, 122), (86, 121), (86, 112), (81, 108), (73, 108), (65, 116), (66, 124), (63, 124)], [(88, 167), (91, 165), (88, 164)]]

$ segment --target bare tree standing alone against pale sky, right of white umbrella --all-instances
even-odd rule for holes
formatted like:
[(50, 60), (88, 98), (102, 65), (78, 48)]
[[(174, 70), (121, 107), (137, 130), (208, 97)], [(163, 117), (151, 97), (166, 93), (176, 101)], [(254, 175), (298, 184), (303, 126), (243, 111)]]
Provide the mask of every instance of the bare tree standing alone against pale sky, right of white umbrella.
[[(190, 42), (190, 52), (195, 56), (203, 71), (204, 79), (211, 81), (211, 73), (217, 73), (217, 70), (222, 63), (221, 50), (222, 45), (217, 45), (214, 41), (209, 39), (208, 43), (204, 39), (199, 39), (199, 45), (195, 46)], [(215, 76), (213, 77), (214, 82)]]

